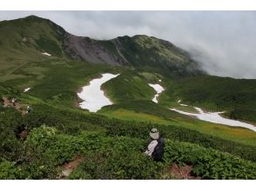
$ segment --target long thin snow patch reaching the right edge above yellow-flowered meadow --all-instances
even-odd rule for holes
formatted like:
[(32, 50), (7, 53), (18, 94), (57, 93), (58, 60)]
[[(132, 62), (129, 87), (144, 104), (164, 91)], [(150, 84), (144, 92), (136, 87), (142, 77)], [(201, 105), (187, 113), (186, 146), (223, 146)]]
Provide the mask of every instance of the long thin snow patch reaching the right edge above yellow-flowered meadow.
[[(181, 102), (181, 101), (178, 101), (178, 102)], [(187, 106), (185, 104), (180, 104), (180, 105)], [(214, 122), (214, 123), (219, 123), (219, 124), (224, 124), (224, 125), (229, 125), (229, 126), (249, 128), (253, 131), (256, 131), (256, 127), (253, 126), (252, 124), (227, 119), (227, 118), (224, 118), (221, 115), (219, 115), (219, 114), (222, 114), (224, 112), (204, 112), (202, 109), (199, 109), (197, 107), (193, 107), (193, 108), (196, 109), (199, 113), (195, 114), (195, 113), (182, 111), (182, 110), (179, 110), (179, 109), (171, 109), (171, 110), (176, 111), (180, 114), (195, 116), (199, 120), (202, 120), (202, 121), (205, 121), (205, 122)]]

